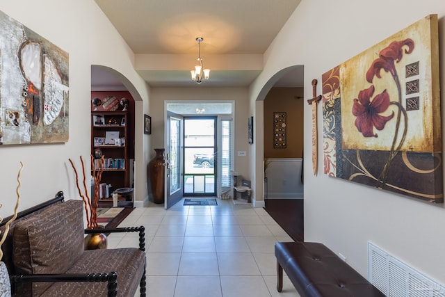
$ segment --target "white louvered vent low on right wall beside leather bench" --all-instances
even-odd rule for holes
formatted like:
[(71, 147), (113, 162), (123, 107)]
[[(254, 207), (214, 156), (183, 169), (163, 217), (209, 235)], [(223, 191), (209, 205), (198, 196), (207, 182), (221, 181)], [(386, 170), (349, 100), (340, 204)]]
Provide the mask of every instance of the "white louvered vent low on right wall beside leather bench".
[(445, 297), (442, 284), (368, 243), (369, 282), (388, 297)]

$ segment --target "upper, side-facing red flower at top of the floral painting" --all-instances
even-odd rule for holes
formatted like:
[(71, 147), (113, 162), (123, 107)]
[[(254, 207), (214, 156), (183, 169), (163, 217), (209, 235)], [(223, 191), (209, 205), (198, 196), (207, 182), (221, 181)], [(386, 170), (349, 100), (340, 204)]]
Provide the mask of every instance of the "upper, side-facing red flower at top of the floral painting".
[(394, 66), (394, 61), (398, 63), (402, 60), (402, 48), (404, 46), (408, 47), (407, 49), (405, 49), (405, 54), (411, 54), (412, 50), (414, 49), (414, 41), (410, 38), (402, 41), (394, 41), (391, 42), (388, 47), (382, 49), (380, 51), (379, 58), (376, 58), (373, 61), (373, 64), (366, 72), (366, 81), (372, 83), (374, 76), (380, 79), (380, 70), (382, 69), (386, 72), (391, 72), (392, 76), (394, 77), (396, 75), (396, 67)]

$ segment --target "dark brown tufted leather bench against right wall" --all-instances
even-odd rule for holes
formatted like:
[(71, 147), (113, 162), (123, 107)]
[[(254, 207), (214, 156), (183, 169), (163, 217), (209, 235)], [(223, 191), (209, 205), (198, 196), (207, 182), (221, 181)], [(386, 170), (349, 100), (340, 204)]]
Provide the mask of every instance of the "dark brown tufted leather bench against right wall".
[(301, 297), (385, 296), (322, 243), (278, 242), (275, 257), (279, 292), (284, 269)]

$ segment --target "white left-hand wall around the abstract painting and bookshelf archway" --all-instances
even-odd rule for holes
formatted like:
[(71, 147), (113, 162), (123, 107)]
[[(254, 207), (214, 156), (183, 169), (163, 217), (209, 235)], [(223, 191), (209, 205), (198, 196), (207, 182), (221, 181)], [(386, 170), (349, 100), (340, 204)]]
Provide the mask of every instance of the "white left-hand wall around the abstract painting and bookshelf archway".
[[(67, 51), (70, 55), (70, 139), (67, 143), (49, 145), (0, 146), (0, 185), (3, 204), (1, 216), (12, 214), (17, 197), (17, 172), (23, 161), (21, 203), (19, 209), (31, 207), (64, 191), (65, 198), (79, 199), (72, 158), (80, 169), (79, 156), (86, 160), (90, 172), (90, 72), (91, 65), (104, 65), (120, 72), (131, 81), (130, 88), (143, 99), (148, 109), (145, 81), (133, 69), (133, 54), (94, 1), (79, 0), (1, 0), (0, 10), (29, 29)], [(112, 46), (110, 46), (112, 45)], [(140, 113), (143, 113), (140, 109)], [(136, 119), (138, 120), (138, 118)], [(142, 126), (142, 120), (139, 123)], [(138, 126), (138, 122), (136, 122)], [(140, 133), (142, 129), (139, 129)], [(136, 130), (138, 133), (138, 130)], [(136, 140), (142, 147), (142, 136)], [(144, 141), (147, 142), (148, 138)], [(146, 163), (146, 160), (141, 160)], [(145, 168), (145, 166), (144, 166)], [(136, 169), (137, 170), (137, 169)], [(139, 174), (138, 174), (139, 173)], [(138, 170), (136, 175), (141, 175)], [(136, 179), (138, 176), (136, 176)], [(88, 185), (90, 180), (87, 179)], [(89, 188), (89, 186), (88, 186)], [(145, 184), (136, 195), (145, 197)]]

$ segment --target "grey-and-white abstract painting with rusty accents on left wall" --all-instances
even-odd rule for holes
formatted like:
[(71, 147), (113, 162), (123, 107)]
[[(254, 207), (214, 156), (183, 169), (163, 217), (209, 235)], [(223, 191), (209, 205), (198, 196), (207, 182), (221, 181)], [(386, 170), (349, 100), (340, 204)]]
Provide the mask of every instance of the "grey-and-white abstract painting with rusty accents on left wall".
[(68, 141), (68, 54), (0, 11), (0, 144)]

